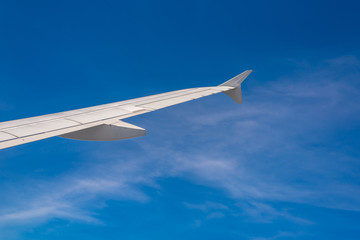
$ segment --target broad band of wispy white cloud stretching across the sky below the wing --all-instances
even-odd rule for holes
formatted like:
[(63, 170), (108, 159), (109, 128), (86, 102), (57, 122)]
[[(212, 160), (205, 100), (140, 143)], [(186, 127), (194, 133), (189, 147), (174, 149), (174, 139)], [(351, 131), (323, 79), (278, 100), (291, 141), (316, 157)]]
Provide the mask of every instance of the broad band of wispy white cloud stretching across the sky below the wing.
[[(147, 141), (134, 141), (129, 151), (102, 145), (91, 152), (101, 164), (38, 182), (39, 191), (26, 203), (9, 200), (0, 208), (0, 225), (51, 218), (99, 224), (93, 210), (107, 199), (146, 202), (141, 187), (160, 187), (157, 180), (164, 177), (223, 189), (255, 219), (309, 223), (268, 201), (358, 211), (360, 163), (345, 150), (351, 146), (336, 139), (359, 127), (359, 67), (351, 56), (332, 59), (254, 86), (241, 106), (226, 105), (229, 100), (219, 96), (144, 117), (153, 132)], [(229, 207), (185, 205), (209, 218)]]

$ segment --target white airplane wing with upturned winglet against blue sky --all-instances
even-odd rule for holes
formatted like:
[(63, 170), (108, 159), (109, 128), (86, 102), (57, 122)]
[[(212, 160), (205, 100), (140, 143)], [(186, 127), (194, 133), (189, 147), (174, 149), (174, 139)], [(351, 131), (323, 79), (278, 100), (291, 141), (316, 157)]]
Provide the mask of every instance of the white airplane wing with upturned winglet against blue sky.
[(241, 103), (241, 83), (251, 72), (247, 70), (216, 87), (189, 88), (95, 107), (2, 122), (0, 123), (0, 149), (54, 136), (88, 141), (111, 141), (144, 136), (145, 129), (123, 122), (121, 119), (219, 92), (224, 92), (236, 103)]

